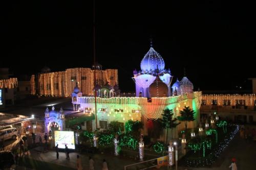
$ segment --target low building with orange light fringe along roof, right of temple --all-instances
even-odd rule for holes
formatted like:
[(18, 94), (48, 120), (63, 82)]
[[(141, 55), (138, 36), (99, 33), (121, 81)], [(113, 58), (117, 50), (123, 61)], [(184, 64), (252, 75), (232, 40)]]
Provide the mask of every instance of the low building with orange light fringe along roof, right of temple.
[(202, 119), (216, 113), (218, 119), (228, 118), (237, 123), (256, 122), (255, 94), (203, 94), (201, 103)]

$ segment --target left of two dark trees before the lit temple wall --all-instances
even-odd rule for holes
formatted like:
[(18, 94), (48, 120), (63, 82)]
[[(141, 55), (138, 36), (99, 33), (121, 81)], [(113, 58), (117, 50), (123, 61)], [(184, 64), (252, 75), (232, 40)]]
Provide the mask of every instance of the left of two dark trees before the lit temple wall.
[(168, 142), (168, 130), (171, 129), (172, 130), (172, 138), (173, 138), (173, 128), (175, 128), (177, 125), (179, 125), (180, 123), (175, 123), (177, 118), (173, 118), (173, 110), (170, 110), (168, 108), (166, 108), (165, 110), (163, 110), (163, 118), (160, 118), (160, 122), (161, 125), (164, 129), (166, 129), (166, 143)]

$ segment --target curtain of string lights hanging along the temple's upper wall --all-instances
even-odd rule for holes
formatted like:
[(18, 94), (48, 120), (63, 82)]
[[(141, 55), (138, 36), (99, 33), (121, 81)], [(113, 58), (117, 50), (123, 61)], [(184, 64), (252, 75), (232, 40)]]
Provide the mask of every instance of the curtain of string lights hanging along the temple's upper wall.
[[(140, 114), (142, 113), (145, 118), (155, 120), (161, 116), (163, 109), (170, 105), (174, 105), (174, 112), (176, 113), (176, 117), (178, 114), (178, 110), (182, 110), (184, 106), (187, 106), (187, 99), (187, 94), (184, 94), (168, 98), (152, 98), (152, 102), (147, 102), (147, 98), (135, 97), (114, 97), (109, 99), (97, 98), (96, 101), (99, 105), (102, 105), (101, 108), (106, 108), (107, 105), (111, 105), (110, 111), (108, 113), (109, 115), (111, 115), (111, 113), (114, 112), (113, 108), (121, 109), (133, 105), (132, 107), (136, 106), (138, 108), (131, 109), (131, 107), (129, 107), (129, 110), (124, 109), (125, 113), (130, 115), (132, 113), (132, 110), (141, 110), (141, 112), (139, 111), (139, 113), (131, 114), (131, 119), (134, 119), (134, 115), (136, 115), (137, 117), (140, 116)], [(94, 108), (94, 97), (78, 97), (76, 104), (80, 104), (80, 106), (83, 106), (84, 108)], [(120, 107), (116, 108), (117, 106)], [(123, 119), (125, 119), (124, 116)]]

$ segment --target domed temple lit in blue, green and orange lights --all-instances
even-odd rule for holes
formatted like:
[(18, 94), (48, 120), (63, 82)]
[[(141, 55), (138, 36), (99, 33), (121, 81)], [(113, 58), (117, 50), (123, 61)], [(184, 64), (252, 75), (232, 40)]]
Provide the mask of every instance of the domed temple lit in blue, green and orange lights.
[[(193, 91), (193, 84), (184, 77), (180, 84), (176, 83), (176, 95), (170, 88), (172, 76), (170, 70), (165, 70), (163, 58), (154, 50), (151, 45), (150, 51), (141, 61), (141, 71), (133, 72), (136, 85), (136, 97), (118, 96), (111, 93), (108, 84), (97, 85), (97, 125), (100, 129), (107, 129), (113, 121), (125, 124), (127, 120), (139, 120), (144, 124), (143, 135), (148, 135), (154, 129), (155, 120), (162, 117), (163, 110), (169, 108), (173, 110), (174, 116), (179, 115), (179, 111), (185, 106), (190, 106), (195, 114), (195, 121), (188, 123), (188, 128), (194, 128), (199, 123), (199, 109), (201, 106), (201, 92)], [(181, 87), (180, 87), (181, 86)], [(116, 89), (118, 89), (116, 87)], [(115, 90), (114, 90), (115, 91)], [(93, 96), (83, 96), (83, 92), (78, 86), (72, 93), (72, 104), (74, 110), (81, 110), (84, 115), (95, 115), (95, 98)], [(88, 124), (84, 122), (83, 124)], [(91, 130), (96, 129), (95, 119), (92, 120)], [(153, 126), (152, 126), (153, 125)], [(84, 126), (86, 127), (86, 126)], [(174, 129), (174, 137), (178, 137), (178, 131), (184, 129), (184, 122)], [(170, 132), (169, 132), (170, 133)], [(159, 139), (165, 139), (165, 133)], [(168, 135), (171, 136), (171, 135)]]

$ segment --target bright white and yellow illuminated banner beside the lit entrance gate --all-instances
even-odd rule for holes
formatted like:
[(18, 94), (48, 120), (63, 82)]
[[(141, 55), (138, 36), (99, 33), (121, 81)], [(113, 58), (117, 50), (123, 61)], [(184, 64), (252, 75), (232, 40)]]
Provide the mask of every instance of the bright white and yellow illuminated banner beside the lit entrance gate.
[(73, 131), (54, 131), (55, 146), (57, 144), (58, 148), (65, 149), (65, 144), (67, 144), (69, 149), (75, 149), (75, 137)]

